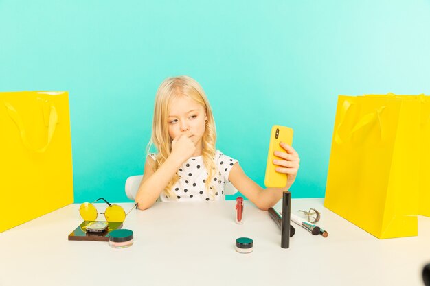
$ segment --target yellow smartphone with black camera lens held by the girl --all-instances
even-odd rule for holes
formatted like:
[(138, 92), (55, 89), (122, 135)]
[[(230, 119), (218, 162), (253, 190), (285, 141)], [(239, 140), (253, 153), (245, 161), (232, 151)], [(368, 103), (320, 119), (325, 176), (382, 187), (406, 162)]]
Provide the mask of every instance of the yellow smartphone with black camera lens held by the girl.
[(278, 165), (273, 164), (273, 160), (281, 159), (275, 156), (275, 151), (286, 152), (280, 146), (284, 142), (288, 145), (293, 144), (293, 129), (285, 126), (274, 125), (270, 133), (269, 153), (267, 154), (266, 174), (264, 176), (264, 184), (268, 188), (283, 188), (286, 185), (287, 175), (275, 171)]

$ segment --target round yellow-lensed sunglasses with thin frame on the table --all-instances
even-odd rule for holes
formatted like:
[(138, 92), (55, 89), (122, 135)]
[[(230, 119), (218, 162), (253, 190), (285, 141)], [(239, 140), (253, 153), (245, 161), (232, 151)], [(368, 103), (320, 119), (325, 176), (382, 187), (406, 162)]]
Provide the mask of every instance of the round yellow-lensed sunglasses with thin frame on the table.
[[(79, 213), (82, 219), (86, 221), (95, 221), (97, 219), (99, 212), (97, 208), (93, 205), (93, 203), (98, 202), (99, 200), (104, 200), (104, 198), (98, 198), (94, 202), (84, 202), (79, 207)], [(100, 213), (100, 215), (104, 215), (106, 222), (124, 222), (126, 220), (126, 215), (133, 211), (133, 208), (137, 208), (137, 203), (131, 208), (128, 213), (124, 211), (124, 208), (118, 206), (117, 204), (110, 204), (108, 201), (104, 200), (108, 206), (104, 213)]]

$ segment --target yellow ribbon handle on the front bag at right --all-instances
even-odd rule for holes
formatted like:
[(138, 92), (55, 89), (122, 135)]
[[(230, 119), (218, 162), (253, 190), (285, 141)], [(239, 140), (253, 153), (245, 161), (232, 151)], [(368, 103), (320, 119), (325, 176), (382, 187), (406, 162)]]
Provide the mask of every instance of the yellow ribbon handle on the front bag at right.
[(358, 130), (360, 130), (361, 128), (364, 128), (365, 126), (368, 126), (372, 123), (374, 123), (375, 121), (378, 122), (378, 126), (379, 126), (379, 134), (381, 136), (381, 139), (383, 138), (383, 133), (382, 133), (382, 126), (381, 126), (381, 112), (383, 112), (383, 110), (385, 109), (385, 106), (381, 106), (381, 108), (378, 108), (377, 110), (375, 110), (374, 112), (370, 112), (367, 113), (367, 115), (364, 115), (363, 117), (361, 117), (361, 119), (354, 125), (354, 127), (352, 128), (352, 130), (350, 131), (350, 133), (348, 134), (348, 136), (346, 136), (345, 138), (342, 138), (342, 136), (340, 135), (340, 128), (343, 125), (345, 118), (346, 118), (346, 113), (348, 112), (348, 110), (350, 110), (350, 108), (354, 105), (354, 103), (349, 102), (348, 100), (345, 100), (342, 104), (341, 107), (341, 122), (339, 123), (339, 125), (336, 128), (336, 133), (335, 133), (335, 141), (337, 144), (342, 144), (345, 141), (348, 141), (351, 137), (352, 134), (354, 134), (355, 132), (357, 132)]

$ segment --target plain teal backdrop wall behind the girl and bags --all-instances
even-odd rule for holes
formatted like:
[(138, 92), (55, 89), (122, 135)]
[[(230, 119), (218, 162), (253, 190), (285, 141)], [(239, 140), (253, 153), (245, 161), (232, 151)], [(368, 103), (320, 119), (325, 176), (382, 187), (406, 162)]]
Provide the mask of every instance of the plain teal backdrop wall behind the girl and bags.
[(210, 99), (217, 147), (259, 184), (295, 130), (293, 198), (323, 197), (337, 95), (430, 93), (430, 1), (0, 1), (0, 91), (69, 91), (75, 202), (127, 202), (155, 91)]

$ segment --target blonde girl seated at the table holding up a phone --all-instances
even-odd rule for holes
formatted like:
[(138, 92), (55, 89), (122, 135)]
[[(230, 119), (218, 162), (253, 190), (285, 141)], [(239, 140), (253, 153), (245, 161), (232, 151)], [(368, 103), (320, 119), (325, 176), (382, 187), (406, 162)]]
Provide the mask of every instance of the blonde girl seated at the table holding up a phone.
[[(249, 178), (237, 160), (215, 148), (215, 121), (203, 88), (188, 76), (167, 78), (155, 96), (150, 145), (158, 154), (146, 158), (144, 177), (136, 195), (139, 209), (157, 200), (224, 200), (224, 184), (231, 182), (262, 210), (275, 205), (293, 184), (299, 155), (281, 143), (286, 152), (275, 152), (276, 171), (288, 174), (284, 188), (262, 189)], [(149, 148), (148, 148), (149, 150)]]

